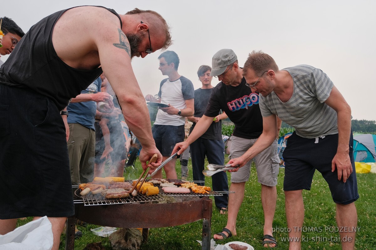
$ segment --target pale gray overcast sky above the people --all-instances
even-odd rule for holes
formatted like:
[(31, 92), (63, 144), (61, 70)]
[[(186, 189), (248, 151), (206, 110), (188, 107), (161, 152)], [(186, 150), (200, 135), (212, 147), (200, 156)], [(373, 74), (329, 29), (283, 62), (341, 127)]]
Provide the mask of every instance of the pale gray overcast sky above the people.
[[(26, 32), (45, 16), (79, 5), (102, 5), (120, 14), (135, 7), (159, 12), (172, 27), (174, 44), (169, 50), (179, 55), (178, 72), (195, 89), (201, 86), (199, 66), (211, 66), (219, 49), (233, 49), (240, 66), (249, 52), (262, 50), (280, 69), (298, 64), (322, 69), (351, 106), (354, 119), (376, 120), (374, 0), (21, 0), (2, 4), (0, 16), (12, 18)], [(166, 78), (158, 70), (160, 54), (132, 61), (144, 95), (158, 93), (159, 83)]]

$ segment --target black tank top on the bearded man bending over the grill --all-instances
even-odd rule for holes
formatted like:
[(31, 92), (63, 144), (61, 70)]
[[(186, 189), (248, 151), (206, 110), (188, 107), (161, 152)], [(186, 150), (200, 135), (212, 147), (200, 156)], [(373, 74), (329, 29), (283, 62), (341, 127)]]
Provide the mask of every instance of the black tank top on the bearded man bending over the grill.
[[(105, 9), (119, 18), (122, 27), (120, 16), (115, 10)], [(100, 67), (93, 70), (74, 69), (56, 54), (52, 44), (52, 31), (56, 21), (67, 10), (53, 13), (33, 25), (0, 70), (1, 84), (30, 88), (53, 100), (59, 110), (67, 106), (70, 98), (80, 94), (81, 90), (85, 90), (102, 73)]]

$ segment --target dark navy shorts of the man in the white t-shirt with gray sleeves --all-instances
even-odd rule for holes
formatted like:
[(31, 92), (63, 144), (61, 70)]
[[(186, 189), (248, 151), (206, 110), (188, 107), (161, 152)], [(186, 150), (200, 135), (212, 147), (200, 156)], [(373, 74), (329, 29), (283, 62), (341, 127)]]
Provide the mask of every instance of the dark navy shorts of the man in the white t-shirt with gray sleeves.
[(184, 141), (184, 125), (153, 125), (155, 145), (162, 156), (170, 156), (175, 145)]

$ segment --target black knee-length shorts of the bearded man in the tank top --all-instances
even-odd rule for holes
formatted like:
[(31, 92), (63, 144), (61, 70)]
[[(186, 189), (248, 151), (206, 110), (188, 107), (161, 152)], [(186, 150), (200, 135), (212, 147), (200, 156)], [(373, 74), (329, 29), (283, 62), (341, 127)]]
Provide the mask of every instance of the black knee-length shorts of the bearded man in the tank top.
[(0, 84), (0, 219), (74, 215), (65, 126), (52, 100)]

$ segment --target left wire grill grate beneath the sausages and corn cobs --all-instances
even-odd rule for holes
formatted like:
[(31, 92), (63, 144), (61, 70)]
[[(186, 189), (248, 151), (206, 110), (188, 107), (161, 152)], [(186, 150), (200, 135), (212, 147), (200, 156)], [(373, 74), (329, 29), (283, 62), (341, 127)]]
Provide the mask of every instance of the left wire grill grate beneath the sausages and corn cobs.
[(74, 194), (79, 199), (74, 199), (74, 203), (83, 203), (84, 206), (95, 206), (95, 205), (113, 205), (113, 204), (126, 204), (126, 203), (136, 203), (136, 202), (150, 202), (150, 201), (163, 201), (162, 197), (158, 195), (146, 196), (142, 193), (138, 193), (136, 196), (129, 196), (127, 198), (121, 199), (105, 199), (100, 194), (93, 195), (89, 193), (85, 196), (80, 196), (80, 189), (77, 189)]

